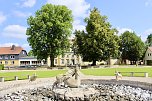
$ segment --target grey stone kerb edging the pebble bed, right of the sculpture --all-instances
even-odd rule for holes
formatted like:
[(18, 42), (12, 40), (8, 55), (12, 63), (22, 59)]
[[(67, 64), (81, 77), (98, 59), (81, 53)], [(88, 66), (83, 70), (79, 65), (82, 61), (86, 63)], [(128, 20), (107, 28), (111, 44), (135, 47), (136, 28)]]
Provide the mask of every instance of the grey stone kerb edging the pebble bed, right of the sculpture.
[(152, 91), (152, 84), (145, 83), (145, 82), (139, 82), (139, 81), (129, 81), (129, 80), (120, 80), (116, 81), (114, 79), (112, 80), (102, 80), (102, 79), (82, 79), (81, 84), (117, 84), (117, 85), (126, 85), (126, 86), (132, 86), (136, 88), (142, 88), (145, 90)]

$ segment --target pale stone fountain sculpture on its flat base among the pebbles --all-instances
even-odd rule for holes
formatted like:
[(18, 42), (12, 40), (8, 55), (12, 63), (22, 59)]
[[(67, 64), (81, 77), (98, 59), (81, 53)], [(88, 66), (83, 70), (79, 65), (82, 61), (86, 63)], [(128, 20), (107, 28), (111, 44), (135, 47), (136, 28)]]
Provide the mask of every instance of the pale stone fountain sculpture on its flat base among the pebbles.
[(76, 99), (93, 95), (97, 93), (93, 87), (81, 85), (81, 77), (78, 66), (70, 69), (66, 74), (56, 76), (56, 81), (53, 83), (52, 91), (54, 98)]

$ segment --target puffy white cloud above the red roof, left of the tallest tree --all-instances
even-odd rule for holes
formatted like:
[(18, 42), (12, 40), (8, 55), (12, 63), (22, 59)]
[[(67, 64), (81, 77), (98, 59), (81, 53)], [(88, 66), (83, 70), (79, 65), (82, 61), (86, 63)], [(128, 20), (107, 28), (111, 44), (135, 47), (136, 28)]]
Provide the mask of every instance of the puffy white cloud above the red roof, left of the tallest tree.
[(5, 37), (24, 39), (27, 38), (25, 33), (26, 33), (26, 27), (24, 26), (8, 25), (7, 27), (4, 28), (2, 35)]

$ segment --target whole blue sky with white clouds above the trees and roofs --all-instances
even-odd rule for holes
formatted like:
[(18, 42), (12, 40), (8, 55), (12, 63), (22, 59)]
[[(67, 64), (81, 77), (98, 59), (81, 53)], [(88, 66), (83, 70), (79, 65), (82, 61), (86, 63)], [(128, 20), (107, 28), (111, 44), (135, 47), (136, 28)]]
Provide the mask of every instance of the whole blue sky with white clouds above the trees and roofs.
[(152, 0), (0, 0), (0, 47), (31, 49), (26, 36), (27, 18), (46, 3), (66, 5), (72, 10), (73, 30), (84, 30), (84, 18), (94, 7), (108, 17), (120, 35), (134, 31), (143, 41), (152, 33)]

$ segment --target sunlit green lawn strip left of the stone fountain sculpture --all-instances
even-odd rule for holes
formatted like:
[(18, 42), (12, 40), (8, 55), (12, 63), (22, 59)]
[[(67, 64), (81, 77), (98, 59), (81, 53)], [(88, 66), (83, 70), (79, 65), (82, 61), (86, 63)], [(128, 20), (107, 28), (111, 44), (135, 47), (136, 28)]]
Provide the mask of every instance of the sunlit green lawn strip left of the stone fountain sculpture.
[(0, 77), (5, 77), (5, 80), (14, 80), (14, 76), (18, 76), (20, 80), (27, 79), (27, 75), (32, 76), (36, 73), (38, 78), (54, 77), (58, 74), (64, 74), (66, 70), (45, 70), (45, 71), (17, 71), (17, 72), (0, 72)]

